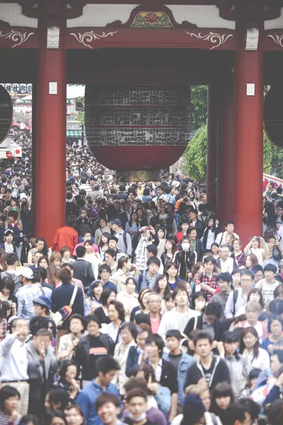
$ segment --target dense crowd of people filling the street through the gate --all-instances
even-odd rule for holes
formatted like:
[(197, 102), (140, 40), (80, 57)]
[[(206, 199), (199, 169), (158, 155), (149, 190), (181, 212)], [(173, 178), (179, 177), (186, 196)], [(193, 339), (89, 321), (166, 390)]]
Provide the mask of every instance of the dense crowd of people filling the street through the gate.
[[(32, 234), (30, 135), (1, 168), (0, 425), (279, 425), (283, 197), (241, 242), (207, 188), (119, 183), (67, 148), (66, 225)], [(55, 206), (54, 206), (55, 208)], [(245, 246), (246, 245), (246, 246)]]

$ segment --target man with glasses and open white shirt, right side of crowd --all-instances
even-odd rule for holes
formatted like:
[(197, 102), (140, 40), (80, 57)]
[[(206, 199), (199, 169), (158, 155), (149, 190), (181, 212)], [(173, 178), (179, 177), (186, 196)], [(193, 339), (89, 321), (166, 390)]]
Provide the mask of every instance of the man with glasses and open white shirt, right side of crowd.
[(241, 271), (241, 288), (233, 290), (230, 293), (225, 307), (225, 317), (226, 319), (231, 319), (231, 317), (237, 316), (238, 310), (245, 306), (248, 300), (248, 293), (253, 287), (253, 281), (255, 275), (250, 270)]

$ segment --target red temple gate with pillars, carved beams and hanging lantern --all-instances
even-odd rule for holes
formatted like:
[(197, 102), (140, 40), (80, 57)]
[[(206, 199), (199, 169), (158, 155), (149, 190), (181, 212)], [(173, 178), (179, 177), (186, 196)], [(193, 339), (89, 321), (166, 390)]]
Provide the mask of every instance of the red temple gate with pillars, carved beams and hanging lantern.
[(190, 86), (208, 85), (209, 202), (245, 241), (262, 234), (263, 86), (282, 84), (283, 0), (0, 0), (0, 60), (1, 83), (33, 84), (34, 225), (48, 243), (65, 222), (67, 84), (86, 84), (97, 159), (139, 179), (180, 157)]

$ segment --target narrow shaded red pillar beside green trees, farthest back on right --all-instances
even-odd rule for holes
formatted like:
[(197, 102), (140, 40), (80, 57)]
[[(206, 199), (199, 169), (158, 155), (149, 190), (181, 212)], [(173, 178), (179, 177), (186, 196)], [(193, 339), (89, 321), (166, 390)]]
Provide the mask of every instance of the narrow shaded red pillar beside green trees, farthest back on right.
[(217, 207), (217, 85), (207, 91), (207, 200)]

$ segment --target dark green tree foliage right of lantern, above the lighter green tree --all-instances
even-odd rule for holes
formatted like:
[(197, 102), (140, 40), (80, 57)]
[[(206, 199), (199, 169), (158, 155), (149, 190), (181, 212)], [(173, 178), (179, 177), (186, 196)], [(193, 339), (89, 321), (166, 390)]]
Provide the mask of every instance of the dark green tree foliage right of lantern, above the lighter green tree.
[(193, 108), (191, 130), (197, 130), (207, 123), (207, 86), (191, 86), (190, 98)]

